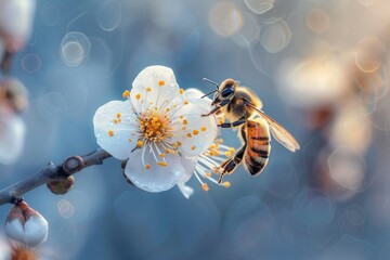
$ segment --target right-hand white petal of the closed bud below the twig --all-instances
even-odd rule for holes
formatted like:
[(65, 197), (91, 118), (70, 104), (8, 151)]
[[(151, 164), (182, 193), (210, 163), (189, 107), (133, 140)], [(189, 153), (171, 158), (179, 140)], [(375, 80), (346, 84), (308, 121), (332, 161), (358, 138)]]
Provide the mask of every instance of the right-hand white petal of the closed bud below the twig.
[(41, 216), (31, 216), (24, 225), (25, 244), (36, 247), (48, 238), (49, 224)]

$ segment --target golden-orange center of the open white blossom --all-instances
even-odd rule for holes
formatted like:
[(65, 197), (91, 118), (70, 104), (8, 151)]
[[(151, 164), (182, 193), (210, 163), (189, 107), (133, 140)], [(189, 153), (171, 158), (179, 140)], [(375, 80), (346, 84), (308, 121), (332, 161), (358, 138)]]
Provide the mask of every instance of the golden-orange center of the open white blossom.
[(140, 116), (140, 130), (143, 134), (143, 138), (150, 142), (162, 142), (167, 136), (167, 125), (168, 120), (166, 118), (160, 118), (156, 114), (148, 116)]

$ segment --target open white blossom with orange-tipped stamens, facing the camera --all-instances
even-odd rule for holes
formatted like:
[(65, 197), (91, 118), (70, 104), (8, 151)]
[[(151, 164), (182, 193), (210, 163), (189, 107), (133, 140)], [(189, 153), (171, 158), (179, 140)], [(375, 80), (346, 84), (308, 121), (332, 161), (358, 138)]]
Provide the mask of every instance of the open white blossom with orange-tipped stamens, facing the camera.
[(218, 133), (211, 107), (179, 89), (172, 69), (151, 66), (132, 83), (127, 101), (101, 106), (93, 118), (98, 144), (117, 159), (128, 159), (126, 176), (140, 188), (162, 192), (182, 180), (182, 158), (197, 157)]

